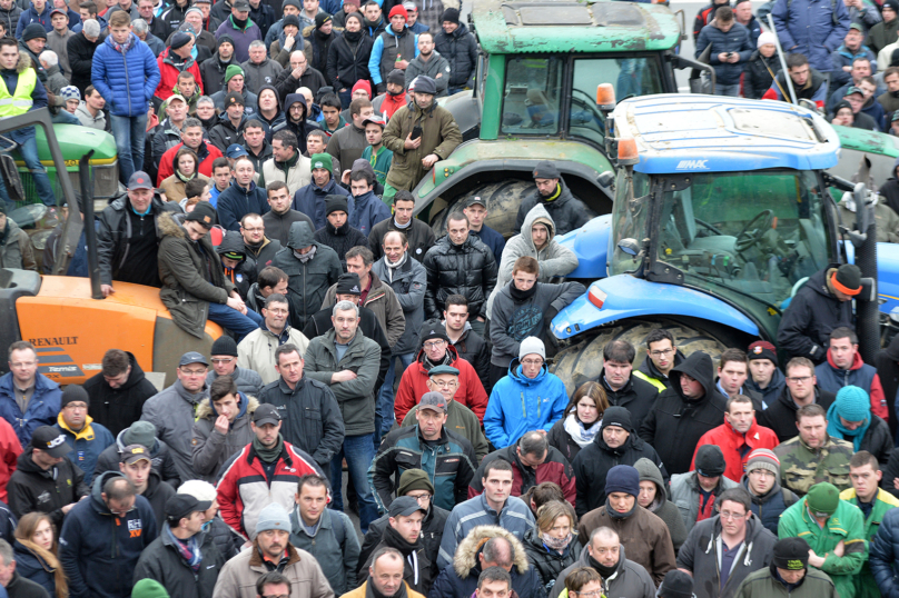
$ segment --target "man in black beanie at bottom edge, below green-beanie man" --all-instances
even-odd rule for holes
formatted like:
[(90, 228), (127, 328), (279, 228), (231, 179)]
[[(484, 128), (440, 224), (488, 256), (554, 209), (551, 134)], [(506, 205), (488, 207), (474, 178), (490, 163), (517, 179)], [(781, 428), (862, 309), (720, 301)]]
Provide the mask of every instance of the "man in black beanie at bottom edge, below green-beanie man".
[[(802, 538), (787, 538), (774, 545), (771, 565), (750, 574), (737, 590), (737, 598), (837, 598), (833, 581), (809, 568), (809, 545)], [(842, 594), (839, 595), (842, 597)], [(684, 597), (689, 598), (689, 597)]]

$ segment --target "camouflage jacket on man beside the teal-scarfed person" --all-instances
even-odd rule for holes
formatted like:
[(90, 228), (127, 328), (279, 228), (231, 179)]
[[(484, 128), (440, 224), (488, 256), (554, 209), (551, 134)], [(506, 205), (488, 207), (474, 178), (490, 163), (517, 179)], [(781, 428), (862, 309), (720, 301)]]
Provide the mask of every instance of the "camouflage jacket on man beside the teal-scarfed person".
[(853, 452), (851, 442), (832, 436), (819, 449), (812, 449), (798, 436), (791, 438), (774, 448), (780, 459), (780, 485), (799, 496), (806, 496), (809, 488), (822, 481), (840, 490), (851, 488), (849, 459)]

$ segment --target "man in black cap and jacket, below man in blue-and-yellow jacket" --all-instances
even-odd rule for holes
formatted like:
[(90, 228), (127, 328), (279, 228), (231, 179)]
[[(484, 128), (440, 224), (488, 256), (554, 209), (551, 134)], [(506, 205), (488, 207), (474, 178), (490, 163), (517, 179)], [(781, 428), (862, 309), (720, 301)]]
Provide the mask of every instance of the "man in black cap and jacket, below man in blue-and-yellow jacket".
[(85, 474), (68, 457), (71, 451), (66, 435), (52, 426), (34, 430), (7, 482), (9, 508), (17, 518), (46, 512), (59, 529), (62, 518), (88, 495)]

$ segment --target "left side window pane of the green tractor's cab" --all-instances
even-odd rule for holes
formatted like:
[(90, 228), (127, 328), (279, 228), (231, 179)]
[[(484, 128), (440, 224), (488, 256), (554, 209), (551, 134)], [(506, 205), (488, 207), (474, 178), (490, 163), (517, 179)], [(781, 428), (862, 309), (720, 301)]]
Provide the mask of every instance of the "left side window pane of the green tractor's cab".
[(510, 58), (503, 92), (502, 132), (555, 134), (564, 63), (559, 58)]

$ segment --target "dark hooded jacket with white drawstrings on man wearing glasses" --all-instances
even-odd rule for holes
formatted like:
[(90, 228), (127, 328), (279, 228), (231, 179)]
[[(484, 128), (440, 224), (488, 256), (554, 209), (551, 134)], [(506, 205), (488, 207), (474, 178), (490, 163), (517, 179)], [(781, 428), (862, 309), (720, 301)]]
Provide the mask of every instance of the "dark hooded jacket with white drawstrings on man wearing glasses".
[(692, 572), (697, 598), (733, 598), (743, 579), (771, 564), (778, 537), (767, 530), (754, 515), (745, 524), (745, 538), (733, 566), (721, 587), (721, 559), (724, 547), (721, 542), (721, 517), (700, 521), (690, 531), (678, 552), (678, 568)]

